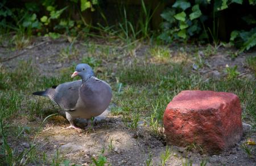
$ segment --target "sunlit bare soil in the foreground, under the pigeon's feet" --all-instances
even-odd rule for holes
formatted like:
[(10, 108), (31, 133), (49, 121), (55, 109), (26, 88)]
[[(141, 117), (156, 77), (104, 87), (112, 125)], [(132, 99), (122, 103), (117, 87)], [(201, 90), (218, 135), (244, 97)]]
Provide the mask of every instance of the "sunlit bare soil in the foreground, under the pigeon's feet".
[[(25, 120), (19, 122), (24, 123)], [(26, 122), (27, 126), (39, 126), (36, 122)], [(80, 124), (81, 125), (81, 124)], [(86, 124), (82, 124), (86, 125)], [(58, 150), (61, 156), (73, 164), (89, 165), (92, 158), (97, 158), (102, 148), (108, 163), (112, 165), (146, 165), (146, 160), (152, 159), (152, 165), (160, 165), (161, 154), (166, 150), (164, 138), (160, 138), (149, 130), (144, 122), (139, 122), (137, 130), (130, 130), (122, 122), (120, 116), (101, 118), (94, 122), (94, 130), (81, 133), (75, 129), (65, 129), (69, 122), (62, 116), (48, 120), (43, 130), (38, 135), (37, 150), (53, 156)], [(247, 133), (248, 136), (248, 133)], [(250, 138), (256, 139), (255, 133), (250, 133)], [(169, 146), (171, 156), (166, 165), (182, 165), (188, 163), (186, 158), (193, 161), (193, 165), (200, 165), (202, 159), (207, 159), (207, 165), (254, 165), (255, 158), (249, 159), (241, 148), (246, 141), (246, 135), (242, 141), (228, 151), (219, 155), (208, 156), (201, 154), (199, 150)], [(112, 148), (110, 148), (112, 142)], [(27, 142), (15, 142), (26, 148)], [(255, 148), (253, 149), (255, 152)]]

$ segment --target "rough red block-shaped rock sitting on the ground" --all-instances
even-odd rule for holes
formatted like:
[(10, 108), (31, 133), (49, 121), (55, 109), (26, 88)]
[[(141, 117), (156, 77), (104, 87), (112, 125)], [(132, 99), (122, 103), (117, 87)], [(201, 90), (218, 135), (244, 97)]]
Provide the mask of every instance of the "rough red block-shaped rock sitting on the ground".
[(167, 105), (163, 122), (168, 144), (195, 143), (209, 154), (242, 137), (240, 100), (234, 93), (182, 91)]

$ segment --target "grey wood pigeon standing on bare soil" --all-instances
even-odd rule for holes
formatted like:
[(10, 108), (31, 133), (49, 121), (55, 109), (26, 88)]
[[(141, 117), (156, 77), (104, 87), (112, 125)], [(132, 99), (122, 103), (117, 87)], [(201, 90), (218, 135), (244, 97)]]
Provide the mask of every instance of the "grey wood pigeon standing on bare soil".
[(80, 130), (74, 123), (76, 118), (85, 118), (91, 126), (92, 117), (99, 116), (108, 108), (112, 100), (112, 89), (104, 80), (94, 76), (92, 67), (86, 63), (76, 66), (71, 78), (80, 76), (81, 80), (66, 82), (53, 86), (46, 91), (38, 91), (33, 95), (49, 97), (65, 111), (70, 123), (67, 128)]

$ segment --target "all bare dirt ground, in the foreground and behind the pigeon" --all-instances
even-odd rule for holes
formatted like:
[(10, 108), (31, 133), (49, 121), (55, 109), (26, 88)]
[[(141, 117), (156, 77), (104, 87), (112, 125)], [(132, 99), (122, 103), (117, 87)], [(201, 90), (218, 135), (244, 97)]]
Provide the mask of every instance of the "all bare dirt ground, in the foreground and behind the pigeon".
[[(62, 68), (70, 67), (73, 63), (79, 63), (81, 61), (81, 56), (72, 58), (72, 60), (60, 61), (57, 55), (61, 49), (69, 45), (69, 42), (66, 40), (47, 40), (44, 38), (37, 39), (33, 42), (34, 46), (37, 44), (41, 45), (15, 52), (9, 52), (5, 48), (0, 48), (0, 54), (3, 55), (1, 57), (2, 59), (23, 52), (20, 56), (2, 62), (2, 64), (13, 68), (20, 60), (31, 59), (32, 63), (35, 63), (35, 66), (38, 67), (39, 74), (55, 75)], [(79, 50), (79, 54), (88, 54), (88, 50), (86, 50), (84, 45), (76, 43), (76, 47)], [(141, 45), (135, 50), (135, 53), (137, 53), (136, 58), (141, 58), (147, 48), (147, 45)], [(118, 49), (117, 51), (121, 52)], [(175, 48), (171, 49), (175, 50)], [(243, 74), (241, 76), (254, 79), (253, 75), (249, 73), (249, 69), (244, 65), (246, 56), (247, 54), (242, 54), (232, 60), (228, 54), (222, 54), (222, 50), (220, 49), (216, 55), (207, 58), (207, 63), (209, 63), (210, 67), (205, 67), (200, 72), (205, 73), (205, 75), (213, 74), (213, 76), (218, 77), (225, 75), (222, 69), (225, 68), (226, 64), (230, 66), (238, 65), (238, 71)], [(129, 59), (129, 57), (126, 58)], [(116, 63), (118, 63), (118, 59)], [(106, 63), (102, 63), (102, 65), (108, 65), (108, 60), (106, 60)], [(114, 65), (113, 62), (112, 65)], [(30, 122), (24, 117), (19, 120), (11, 120), (10, 123), (36, 127), (39, 126), (40, 122), (41, 120)], [(105, 148), (104, 155), (111, 165), (146, 165), (146, 160), (150, 156), (152, 158), (152, 165), (160, 165), (160, 154), (163, 154), (166, 150), (164, 137), (152, 134), (150, 127), (146, 124), (146, 120), (139, 122), (137, 130), (131, 130), (123, 124), (121, 116), (113, 116), (109, 113), (102, 120), (96, 121), (94, 131), (82, 131), (79, 133), (73, 129), (65, 129), (64, 127), (67, 126), (69, 126), (69, 123), (62, 116), (50, 118), (44, 125), (38, 138), (36, 138), (36, 143), (38, 144), (36, 147), (37, 150), (44, 151), (49, 156), (53, 155), (56, 150), (59, 150), (63, 158), (69, 159), (73, 164), (81, 165), (92, 163), (91, 158), (97, 158), (102, 148)], [(28, 136), (33, 138), (32, 135)], [(182, 163), (186, 162), (186, 158), (191, 159), (193, 165), (200, 165), (200, 161), (203, 158), (208, 160), (207, 165), (256, 165), (256, 158), (249, 159), (241, 149), (241, 144), (248, 137), (256, 140), (255, 133), (244, 133), (242, 141), (236, 144), (236, 146), (221, 154), (210, 156), (202, 155), (197, 150), (188, 151), (184, 147), (169, 146), (171, 157), (167, 160), (166, 165), (182, 165)], [(111, 140), (113, 140), (113, 150), (109, 150)], [(27, 148), (27, 142), (20, 140), (13, 142), (11, 146)], [(255, 154), (255, 147), (253, 151)]]

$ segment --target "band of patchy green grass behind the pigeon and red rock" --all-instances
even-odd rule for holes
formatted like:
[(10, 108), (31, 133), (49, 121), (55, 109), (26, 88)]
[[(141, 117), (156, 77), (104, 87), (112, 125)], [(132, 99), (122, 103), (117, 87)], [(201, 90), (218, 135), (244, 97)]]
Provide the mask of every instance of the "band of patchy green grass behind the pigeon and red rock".
[[(87, 45), (87, 47), (90, 50), (89, 56), (83, 57), (82, 62), (89, 63), (94, 69), (101, 68), (97, 76), (110, 83), (114, 93), (113, 102), (117, 105), (112, 108), (112, 113), (121, 115), (123, 122), (130, 129), (137, 130), (138, 122), (144, 120), (150, 126), (152, 133), (163, 135), (163, 113), (177, 93), (183, 90), (213, 90), (233, 92), (238, 95), (243, 109), (243, 121), (253, 125), (255, 130), (256, 82), (253, 79), (237, 77), (237, 74), (234, 74), (236, 70), (228, 71), (229, 74), (220, 80), (207, 79), (200, 73), (193, 72), (191, 63), (186, 58), (179, 62), (173, 61), (167, 48), (154, 47), (150, 49), (149, 56), (129, 61), (126, 58), (130, 55), (126, 53), (134, 48), (127, 46), (120, 51), (112, 46)], [(124, 53), (126, 55), (123, 55)], [(159, 63), (158, 59), (148, 60), (152, 57), (163, 57), (164, 63)], [(103, 59), (107, 59), (107, 62)], [(253, 69), (254, 58), (248, 58), (246, 62)], [(60, 74), (55, 76), (41, 75), (31, 61), (22, 61), (15, 69), (2, 66), (0, 114), (3, 117), (3, 127), (10, 129), (6, 122), (11, 118), (25, 116), (28, 120), (34, 121), (37, 118), (43, 120), (48, 114), (56, 113), (59, 108), (51, 101), (32, 96), (31, 93), (72, 81), (70, 74), (75, 66), (76, 64), (73, 64), (67, 69), (62, 69)], [(23, 126), (15, 127), (16, 137), (20, 132), (24, 132)], [(6, 131), (6, 134), (10, 133)], [(20, 139), (20, 136), (17, 139)], [(36, 157), (32, 155), (33, 151), (30, 153), (29, 161), (32, 162)], [(62, 162), (57, 161), (55, 157), (53, 160), (52, 163)]]

